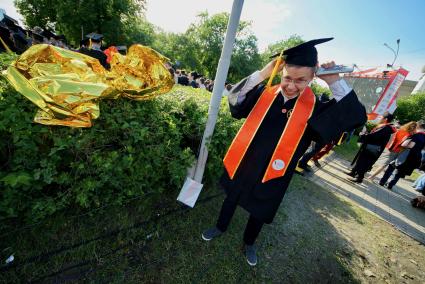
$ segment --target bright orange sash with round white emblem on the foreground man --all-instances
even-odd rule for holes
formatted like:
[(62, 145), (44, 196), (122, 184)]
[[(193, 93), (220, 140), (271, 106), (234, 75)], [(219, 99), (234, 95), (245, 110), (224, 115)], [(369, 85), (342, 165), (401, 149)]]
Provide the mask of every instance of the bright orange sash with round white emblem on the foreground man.
[[(279, 92), (277, 92), (278, 88), (279, 85), (264, 90), (224, 156), (224, 167), (230, 179), (233, 179), (235, 176), (264, 117), (279, 94)], [(283, 130), (264, 174), (263, 183), (285, 174), (287, 165), (289, 165), (304, 131), (307, 128), (307, 120), (313, 113), (315, 102), (316, 97), (309, 87), (305, 88), (303, 93), (297, 98), (292, 114), (286, 123), (285, 129)]]

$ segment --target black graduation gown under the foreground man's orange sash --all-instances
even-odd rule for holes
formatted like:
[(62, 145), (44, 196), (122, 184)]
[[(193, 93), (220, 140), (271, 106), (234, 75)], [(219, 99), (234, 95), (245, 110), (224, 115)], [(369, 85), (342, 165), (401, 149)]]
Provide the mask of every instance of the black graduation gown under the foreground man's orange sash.
[[(263, 90), (264, 86), (258, 85), (247, 93), (246, 99), (241, 104), (230, 105), (232, 116), (238, 119), (246, 118)], [(285, 103), (281, 94), (276, 97), (248, 147), (233, 180), (229, 178), (226, 170), (220, 180), (230, 201), (236, 202), (264, 223), (273, 221), (291, 181), (297, 161), (307, 150), (311, 141), (329, 143), (333, 139), (337, 139), (342, 132), (363, 125), (367, 119), (366, 110), (358, 101), (354, 91), (351, 91), (338, 103), (335, 100), (327, 103), (316, 100), (308, 127), (295, 150), (285, 175), (262, 183), (261, 180), (288, 121), (288, 111), (283, 113), (282, 109), (293, 109), (297, 99), (290, 99)]]

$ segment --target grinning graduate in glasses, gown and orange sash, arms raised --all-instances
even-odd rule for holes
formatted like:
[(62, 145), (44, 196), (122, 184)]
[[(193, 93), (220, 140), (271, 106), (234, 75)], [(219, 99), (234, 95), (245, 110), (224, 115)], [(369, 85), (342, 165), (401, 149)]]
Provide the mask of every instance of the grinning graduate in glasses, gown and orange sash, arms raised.
[[(240, 160), (236, 172), (233, 172), (231, 177), (228, 170), (225, 169), (221, 178), (221, 185), (227, 197), (223, 202), (216, 226), (204, 231), (202, 238), (208, 241), (226, 231), (237, 205), (241, 206), (250, 213), (243, 238), (245, 256), (250, 265), (257, 263), (255, 240), (263, 224), (270, 224), (273, 221), (297, 162), (310, 143), (312, 141), (329, 143), (340, 133), (350, 131), (366, 122), (365, 108), (358, 101), (352, 88), (338, 74), (320, 76), (328, 83), (333, 93), (333, 99), (327, 103), (315, 100), (311, 105), (312, 111), (309, 119), (305, 120), (303, 125), (297, 126), (304, 127), (304, 131), (299, 137), (296, 137), (298, 143), (291, 148), (291, 159), (286, 160), (286, 163), (280, 159), (271, 161), (275, 149), (282, 145), (285, 148), (285, 144), (293, 143), (291, 142), (293, 137), (280, 138), (284, 136), (287, 124), (290, 124), (288, 121), (291, 116), (294, 113), (302, 116), (302, 113), (295, 112), (295, 106), (297, 101), (304, 96), (304, 92), (309, 89), (307, 86), (314, 78), (318, 65), (317, 50), (314, 45), (328, 40), (331, 39), (312, 40), (283, 52), (284, 63), (279, 66), (279, 70), (282, 70), (280, 73), (282, 80), (273, 88), (275, 99), (264, 114), (260, 125), (253, 130), (251, 143), (243, 152), (243, 158)], [(261, 71), (256, 71), (243, 79), (230, 91), (229, 105), (234, 118), (246, 118), (251, 112), (254, 112), (253, 109), (256, 111), (258, 108), (256, 103), (261, 101), (266, 93), (266, 87), (261, 83), (270, 77), (275, 62), (276, 60), (270, 62)], [(323, 64), (322, 67), (330, 68), (334, 65), (334, 62), (330, 62)], [(255, 119), (252, 116), (250, 115), (245, 124), (250, 119)], [(298, 133), (298, 128), (294, 129), (296, 131), (291, 133)], [(240, 133), (237, 137), (239, 136)], [(226, 154), (225, 167), (228, 167), (226, 159), (237, 140), (239, 139), (234, 140)], [(270, 168), (276, 171), (284, 169), (285, 174), (264, 181)]]

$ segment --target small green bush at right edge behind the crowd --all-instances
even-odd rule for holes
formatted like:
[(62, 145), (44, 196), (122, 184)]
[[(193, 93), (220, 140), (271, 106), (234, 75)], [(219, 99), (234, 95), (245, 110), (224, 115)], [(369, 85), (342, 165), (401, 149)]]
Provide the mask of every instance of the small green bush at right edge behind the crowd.
[(397, 100), (397, 109), (394, 115), (401, 124), (424, 120), (425, 93), (414, 94)]

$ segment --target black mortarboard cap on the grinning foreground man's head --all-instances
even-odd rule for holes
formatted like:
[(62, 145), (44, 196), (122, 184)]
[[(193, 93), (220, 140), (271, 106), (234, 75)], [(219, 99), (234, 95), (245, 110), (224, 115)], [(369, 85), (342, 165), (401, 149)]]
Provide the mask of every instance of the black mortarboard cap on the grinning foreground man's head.
[[(285, 63), (298, 65), (298, 66), (315, 67), (317, 65), (317, 49), (315, 45), (321, 44), (330, 40), (333, 40), (333, 37), (313, 39), (313, 40), (301, 43), (295, 47), (286, 49), (283, 52)], [(270, 58), (274, 58), (279, 55), (280, 53), (276, 53)]]

